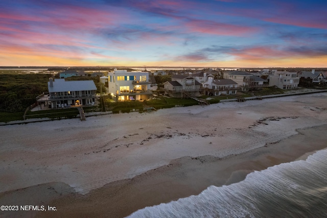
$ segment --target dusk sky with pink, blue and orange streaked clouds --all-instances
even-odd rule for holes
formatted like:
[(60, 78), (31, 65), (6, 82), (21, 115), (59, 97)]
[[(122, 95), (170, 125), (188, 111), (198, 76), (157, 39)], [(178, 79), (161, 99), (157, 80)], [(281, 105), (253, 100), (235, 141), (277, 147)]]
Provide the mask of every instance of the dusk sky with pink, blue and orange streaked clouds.
[(327, 1), (2, 0), (0, 66), (327, 67)]

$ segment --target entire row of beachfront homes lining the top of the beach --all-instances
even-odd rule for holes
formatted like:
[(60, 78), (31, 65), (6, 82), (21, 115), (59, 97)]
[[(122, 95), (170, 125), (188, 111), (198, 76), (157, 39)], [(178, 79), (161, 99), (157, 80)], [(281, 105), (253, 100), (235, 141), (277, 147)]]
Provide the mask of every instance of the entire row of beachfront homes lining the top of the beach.
[[(197, 74), (173, 75), (171, 81), (164, 83), (162, 90), (171, 97), (198, 97), (236, 94), (238, 90), (249, 91), (267, 86), (280, 89), (296, 89), (300, 79), (312, 83), (326, 83), (327, 73), (324, 72), (269, 72), (267, 80), (245, 71), (226, 71), (223, 79), (215, 79), (214, 75), (205, 72)], [(153, 77), (153, 76), (152, 76)], [(103, 77), (101, 77), (103, 78)], [(149, 72), (127, 72), (117, 70), (109, 72), (106, 77), (108, 92), (116, 101), (144, 100), (152, 97), (152, 84)], [(152, 79), (153, 80), (153, 79)], [(93, 80), (65, 81), (50, 78), (49, 94), (37, 97), (37, 102), (52, 108), (94, 105), (96, 101), (96, 85)]]

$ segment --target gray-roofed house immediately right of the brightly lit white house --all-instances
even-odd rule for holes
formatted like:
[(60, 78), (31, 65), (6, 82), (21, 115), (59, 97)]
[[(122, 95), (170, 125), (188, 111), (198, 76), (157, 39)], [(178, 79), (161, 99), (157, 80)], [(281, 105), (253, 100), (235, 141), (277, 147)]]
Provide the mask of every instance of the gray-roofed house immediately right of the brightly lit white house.
[(165, 94), (174, 98), (200, 96), (201, 83), (191, 75), (173, 75), (172, 81), (164, 83)]

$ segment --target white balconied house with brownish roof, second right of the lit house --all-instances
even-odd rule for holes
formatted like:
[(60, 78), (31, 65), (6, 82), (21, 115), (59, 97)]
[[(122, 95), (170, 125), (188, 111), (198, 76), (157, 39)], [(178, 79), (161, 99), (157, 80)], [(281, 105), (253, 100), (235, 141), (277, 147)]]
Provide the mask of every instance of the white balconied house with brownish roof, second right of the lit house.
[(239, 89), (237, 82), (231, 79), (213, 79), (212, 77), (209, 77), (202, 86), (203, 94), (208, 96), (232, 95), (236, 94)]

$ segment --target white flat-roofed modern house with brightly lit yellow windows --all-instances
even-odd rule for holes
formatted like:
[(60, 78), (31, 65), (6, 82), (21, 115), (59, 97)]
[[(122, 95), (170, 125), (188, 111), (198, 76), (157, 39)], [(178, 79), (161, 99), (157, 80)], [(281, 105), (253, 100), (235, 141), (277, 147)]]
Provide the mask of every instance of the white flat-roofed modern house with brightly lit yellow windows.
[(149, 72), (114, 69), (108, 73), (108, 90), (115, 101), (144, 100), (152, 96)]

